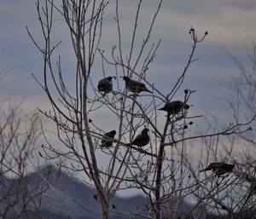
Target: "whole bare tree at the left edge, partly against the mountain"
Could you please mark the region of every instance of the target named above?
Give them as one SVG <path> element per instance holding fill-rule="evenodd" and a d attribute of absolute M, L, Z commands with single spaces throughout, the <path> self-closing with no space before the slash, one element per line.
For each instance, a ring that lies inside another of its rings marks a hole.
<path fill-rule="evenodd" d="M 39 136 L 38 112 L 24 112 L 20 104 L 1 107 L 0 121 L 0 189 L 1 216 L 20 216 L 26 212 L 26 206 L 38 193 L 29 189 L 25 178 L 33 170 L 29 166 L 38 166 L 35 154 Z M 32 165 L 31 165 L 32 166 Z M 35 203 L 34 203 L 35 204 Z M 19 205 L 19 207 L 17 207 Z M 38 205 L 33 208 L 38 210 Z M 19 210 L 18 210 L 19 209 Z"/>

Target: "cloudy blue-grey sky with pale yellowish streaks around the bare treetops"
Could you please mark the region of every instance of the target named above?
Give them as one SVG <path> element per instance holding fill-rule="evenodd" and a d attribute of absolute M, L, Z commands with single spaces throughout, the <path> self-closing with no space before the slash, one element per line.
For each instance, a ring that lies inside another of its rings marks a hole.
<path fill-rule="evenodd" d="M 139 16 L 138 40 L 140 43 L 145 31 L 148 30 L 148 20 L 157 7 L 157 1 L 144 0 L 142 14 Z M 44 1 L 40 1 L 44 3 Z M 110 0 L 103 21 L 101 46 L 107 53 L 111 46 L 117 43 L 117 31 L 114 22 L 115 1 Z M 131 27 L 135 19 L 137 1 L 122 0 L 119 3 L 121 29 L 124 51 L 131 42 Z M 148 69 L 148 81 L 154 82 L 164 93 L 176 83 L 178 75 L 188 60 L 191 50 L 189 29 L 195 28 L 198 36 L 208 32 L 205 40 L 195 51 L 197 61 L 189 67 L 182 89 L 196 89 L 189 104 L 193 105 L 191 113 L 206 112 L 218 117 L 227 118 L 224 109 L 224 98 L 227 89 L 220 84 L 229 83 L 239 76 L 235 63 L 226 54 L 229 52 L 239 60 L 247 63 L 247 49 L 251 41 L 256 39 L 256 0 L 164 0 L 160 8 L 150 37 L 151 42 L 161 40 L 156 52 L 154 63 Z M 55 42 L 62 41 L 56 50 L 56 56 L 61 55 L 66 80 L 72 79 L 72 67 L 75 63 L 70 52 L 69 33 L 64 26 L 60 14 L 54 15 Z M 42 32 L 38 23 L 38 15 L 34 0 L 0 1 L 0 101 L 7 105 L 9 101 L 23 101 L 25 110 L 49 108 L 49 102 L 43 90 L 32 77 L 42 77 L 43 59 L 26 32 L 26 26 L 32 36 L 42 43 Z M 102 78 L 100 66 L 96 66 L 93 84 Z M 108 75 L 113 72 L 108 70 Z M 69 84 L 71 87 L 72 84 Z M 177 99 L 183 98 L 183 92 L 178 92 Z M 99 112 L 103 118 L 107 112 Z M 107 113 L 108 114 L 108 113 Z M 228 122 L 228 121 L 227 121 Z M 107 127 L 107 121 L 102 125 Z"/>

